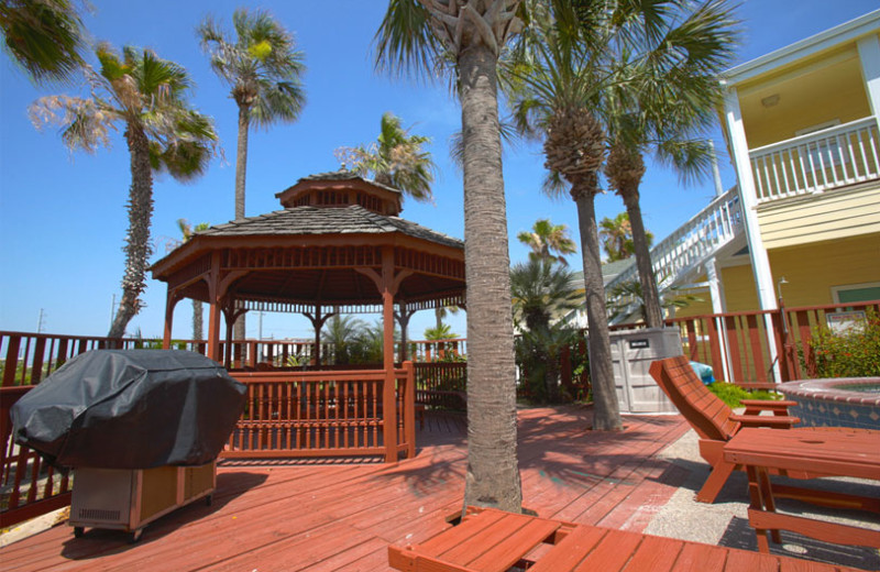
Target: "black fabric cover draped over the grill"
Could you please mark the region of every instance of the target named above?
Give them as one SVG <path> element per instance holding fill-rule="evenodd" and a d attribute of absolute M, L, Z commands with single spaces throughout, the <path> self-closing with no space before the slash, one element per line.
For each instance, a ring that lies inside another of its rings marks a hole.
<path fill-rule="evenodd" d="M 96 350 L 22 396 L 13 431 L 57 466 L 199 465 L 222 450 L 245 391 L 197 353 Z"/>

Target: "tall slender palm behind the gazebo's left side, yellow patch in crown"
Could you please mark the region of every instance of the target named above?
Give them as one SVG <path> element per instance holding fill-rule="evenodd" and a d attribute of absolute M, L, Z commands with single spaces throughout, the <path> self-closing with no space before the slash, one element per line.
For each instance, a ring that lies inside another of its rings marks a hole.
<path fill-rule="evenodd" d="M 235 41 L 211 19 L 197 32 L 202 50 L 210 54 L 211 68 L 231 88 L 239 108 L 239 141 L 235 151 L 235 219 L 244 218 L 244 186 L 248 172 L 248 133 L 253 122 L 268 128 L 299 118 L 306 95 L 300 77 L 306 70 L 302 52 L 294 36 L 264 11 L 235 10 L 232 14 Z M 234 338 L 244 340 L 245 318 L 234 326 Z"/>

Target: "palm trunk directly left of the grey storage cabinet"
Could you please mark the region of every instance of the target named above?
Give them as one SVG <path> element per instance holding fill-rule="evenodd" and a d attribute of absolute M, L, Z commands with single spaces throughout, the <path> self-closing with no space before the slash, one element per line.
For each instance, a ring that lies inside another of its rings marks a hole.
<path fill-rule="evenodd" d="M 624 426 L 620 420 L 620 407 L 617 404 L 614 370 L 612 369 L 608 314 L 605 308 L 605 285 L 602 280 L 598 251 L 595 184 L 575 184 L 572 186 L 571 194 L 578 206 L 578 227 L 581 231 L 581 253 L 584 265 L 587 348 L 594 404 L 593 428 L 597 431 L 619 431 Z"/>

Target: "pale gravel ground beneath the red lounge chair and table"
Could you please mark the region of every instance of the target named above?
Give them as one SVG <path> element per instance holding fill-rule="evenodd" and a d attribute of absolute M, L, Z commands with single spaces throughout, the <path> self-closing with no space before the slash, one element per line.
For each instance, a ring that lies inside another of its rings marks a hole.
<path fill-rule="evenodd" d="M 758 550 L 755 531 L 749 527 L 748 480 L 745 472 L 735 472 L 715 503 L 707 505 L 694 499 L 694 495 L 703 486 L 710 473 L 708 464 L 700 458 L 696 433 L 693 430 L 688 431 L 681 439 L 664 449 L 659 457 L 688 470 L 689 476 L 672 495 L 669 503 L 653 517 L 645 530 L 646 534 Z M 774 477 L 773 481 L 794 485 L 804 484 L 803 481 L 778 477 Z M 880 497 L 880 486 L 876 481 L 821 479 L 812 480 L 810 486 Z M 787 498 L 777 501 L 777 509 L 880 530 L 880 515 L 871 514 L 866 518 L 866 513 L 825 509 Z M 831 544 L 784 530 L 781 532 L 781 537 L 782 544 L 770 542 L 770 551 L 774 554 L 794 556 L 866 570 L 880 570 L 880 551 L 877 549 Z"/>

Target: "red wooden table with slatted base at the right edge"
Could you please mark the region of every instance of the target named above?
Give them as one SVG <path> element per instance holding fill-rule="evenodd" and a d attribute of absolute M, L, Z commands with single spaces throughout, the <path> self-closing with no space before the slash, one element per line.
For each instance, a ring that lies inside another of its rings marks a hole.
<path fill-rule="evenodd" d="M 806 471 L 825 476 L 854 476 L 880 481 L 880 431 L 815 430 L 812 428 L 770 431 L 743 429 L 724 446 L 724 459 L 746 468 L 749 479 L 749 524 L 758 536 L 758 549 L 769 552 L 767 534 L 779 542 L 779 530 L 839 544 L 867 546 L 880 549 L 880 531 L 780 514 L 774 493 L 824 506 L 880 510 L 880 499 L 855 495 L 773 485 L 773 471 Z M 791 495 L 792 491 L 799 492 Z"/>

